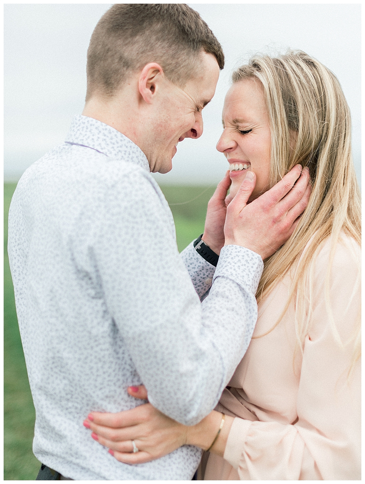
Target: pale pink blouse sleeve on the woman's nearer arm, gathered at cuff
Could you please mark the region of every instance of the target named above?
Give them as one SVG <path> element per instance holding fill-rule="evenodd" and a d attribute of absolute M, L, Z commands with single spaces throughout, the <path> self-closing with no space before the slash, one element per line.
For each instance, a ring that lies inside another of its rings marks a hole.
<path fill-rule="evenodd" d="M 241 480 L 361 479 L 360 360 L 352 371 L 355 321 L 360 311 L 359 248 L 338 244 L 330 280 L 324 277 L 329 250 L 315 267 L 315 298 L 305 338 L 297 399 L 298 421 L 250 422 L 235 418 L 224 458 Z M 335 325 L 343 345 L 334 337 Z"/>

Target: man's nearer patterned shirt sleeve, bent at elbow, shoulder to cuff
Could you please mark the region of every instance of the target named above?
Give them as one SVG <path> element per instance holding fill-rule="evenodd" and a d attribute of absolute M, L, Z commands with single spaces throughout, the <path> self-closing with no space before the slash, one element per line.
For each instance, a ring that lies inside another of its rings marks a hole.
<path fill-rule="evenodd" d="M 134 169 L 108 187 L 85 251 L 150 402 L 192 425 L 215 407 L 247 349 L 263 263 L 243 247 L 225 247 L 201 304 L 150 178 Z"/>

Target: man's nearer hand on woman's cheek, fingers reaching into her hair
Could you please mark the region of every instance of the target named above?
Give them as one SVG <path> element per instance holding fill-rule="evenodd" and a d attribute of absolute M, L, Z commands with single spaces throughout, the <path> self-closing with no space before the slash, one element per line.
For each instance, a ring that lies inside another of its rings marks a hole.
<path fill-rule="evenodd" d="M 227 207 L 225 245 L 241 245 L 266 259 L 286 242 L 310 196 L 309 170 L 294 166 L 273 188 L 247 205 L 256 176 L 248 171 Z"/>

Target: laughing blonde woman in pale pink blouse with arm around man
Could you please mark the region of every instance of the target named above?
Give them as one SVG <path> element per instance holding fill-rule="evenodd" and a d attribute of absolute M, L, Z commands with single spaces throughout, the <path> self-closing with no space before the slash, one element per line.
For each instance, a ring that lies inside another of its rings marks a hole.
<path fill-rule="evenodd" d="M 193 427 L 150 404 L 92 413 L 85 425 L 126 463 L 183 444 L 209 449 L 206 480 L 360 479 L 360 193 L 349 107 L 326 67 L 292 51 L 233 74 L 223 123 L 217 149 L 232 195 L 247 171 L 257 177 L 252 199 L 298 163 L 312 181 L 294 233 L 265 261 L 250 346 L 216 410 Z M 143 387 L 129 393 L 146 397 Z"/>

